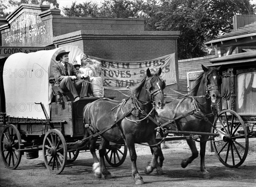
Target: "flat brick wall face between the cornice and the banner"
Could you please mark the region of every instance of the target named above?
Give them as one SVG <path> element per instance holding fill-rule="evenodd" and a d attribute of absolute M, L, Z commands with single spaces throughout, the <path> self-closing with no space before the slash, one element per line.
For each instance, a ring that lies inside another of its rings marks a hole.
<path fill-rule="evenodd" d="M 175 40 L 141 37 L 136 40 L 120 38 L 84 40 L 84 53 L 116 61 L 142 61 L 175 53 Z"/>

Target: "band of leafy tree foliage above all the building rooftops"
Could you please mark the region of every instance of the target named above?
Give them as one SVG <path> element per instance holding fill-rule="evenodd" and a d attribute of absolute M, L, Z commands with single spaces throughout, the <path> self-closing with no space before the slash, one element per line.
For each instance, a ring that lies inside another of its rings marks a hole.
<path fill-rule="evenodd" d="M 57 0 L 20 0 L 19 3 L 42 4 L 58 8 Z M 9 0 L 9 2 L 17 2 Z M 3 15 L 5 7 L 0 7 Z M 102 6 L 93 1 L 63 7 L 65 16 L 143 18 L 145 30 L 180 31 L 178 57 L 202 57 L 207 53 L 204 42 L 232 31 L 233 16 L 255 14 L 250 0 L 105 0 Z"/>

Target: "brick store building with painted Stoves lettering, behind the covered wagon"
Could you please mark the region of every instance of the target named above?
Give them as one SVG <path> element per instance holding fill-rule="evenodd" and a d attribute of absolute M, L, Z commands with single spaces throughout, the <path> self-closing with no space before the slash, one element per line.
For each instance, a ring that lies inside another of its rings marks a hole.
<path fill-rule="evenodd" d="M 178 72 L 179 31 L 144 31 L 143 19 L 63 17 L 60 13 L 59 9 L 50 9 L 48 5 L 21 4 L 3 20 L 6 24 L 0 26 L 2 47 L 29 47 L 32 52 L 35 47 L 73 45 L 90 56 L 126 62 L 176 52 Z M 177 88 L 177 84 L 169 87 Z M 122 99 L 118 92 L 105 94 Z"/>

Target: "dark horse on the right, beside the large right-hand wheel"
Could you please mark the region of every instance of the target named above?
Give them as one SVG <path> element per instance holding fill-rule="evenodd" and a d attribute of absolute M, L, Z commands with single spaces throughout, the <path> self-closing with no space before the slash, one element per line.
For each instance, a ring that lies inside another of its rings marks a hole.
<path fill-rule="evenodd" d="M 214 114 L 211 105 L 218 103 L 221 97 L 220 86 L 222 77 L 219 72 L 221 67 L 206 68 L 204 65 L 202 65 L 202 68 L 204 73 L 202 73 L 196 80 L 189 98 L 184 98 L 181 100 L 175 99 L 169 103 L 166 102 L 164 109 L 156 110 L 161 124 L 164 124 L 168 120 L 174 119 L 175 117 L 178 118 L 180 115 L 184 115 L 183 117 L 175 120 L 175 123 L 168 126 L 170 130 L 195 132 L 211 131 L 212 126 L 209 122 L 214 122 Z M 209 120 L 209 122 L 207 122 L 207 120 Z M 208 138 L 209 136 L 202 136 L 200 139 L 200 169 L 205 178 L 210 177 L 204 164 L 205 147 Z M 195 141 L 192 139 L 188 139 L 186 141 L 192 151 L 192 156 L 182 160 L 181 166 L 183 168 L 198 157 L 198 150 L 195 146 Z"/>

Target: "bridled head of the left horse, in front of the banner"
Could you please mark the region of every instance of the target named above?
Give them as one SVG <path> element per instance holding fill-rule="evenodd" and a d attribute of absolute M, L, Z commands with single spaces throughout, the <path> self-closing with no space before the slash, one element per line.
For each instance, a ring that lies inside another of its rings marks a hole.
<path fill-rule="evenodd" d="M 163 89 L 166 87 L 165 82 L 160 78 L 162 69 L 160 68 L 156 74 L 151 74 L 149 68 L 147 69 L 147 77 L 145 82 L 146 91 L 149 93 L 151 99 L 157 108 L 163 108 L 165 100 L 163 96 Z"/>

